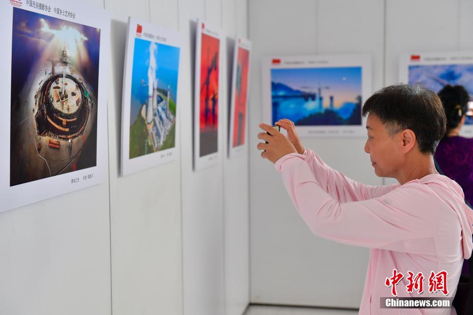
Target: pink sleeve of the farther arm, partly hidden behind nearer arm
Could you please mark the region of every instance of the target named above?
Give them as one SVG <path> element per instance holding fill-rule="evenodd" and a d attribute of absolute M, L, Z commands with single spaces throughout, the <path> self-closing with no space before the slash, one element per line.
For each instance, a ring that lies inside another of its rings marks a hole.
<path fill-rule="evenodd" d="M 323 191 L 339 202 L 367 200 L 385 195 L 394 188 L 399 187 L 399 184 L 370 186 L 354 181 L 325 164 L 310 149 L 305 149 L 303 156 Z"/>

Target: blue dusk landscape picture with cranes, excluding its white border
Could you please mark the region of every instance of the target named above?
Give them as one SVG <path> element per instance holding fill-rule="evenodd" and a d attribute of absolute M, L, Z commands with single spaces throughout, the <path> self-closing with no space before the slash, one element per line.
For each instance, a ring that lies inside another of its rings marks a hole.
<path fill-rule="evenodd" d="M 361 125 L 361 95 L 361 67 L 271 70 L 273 124 Z"/>

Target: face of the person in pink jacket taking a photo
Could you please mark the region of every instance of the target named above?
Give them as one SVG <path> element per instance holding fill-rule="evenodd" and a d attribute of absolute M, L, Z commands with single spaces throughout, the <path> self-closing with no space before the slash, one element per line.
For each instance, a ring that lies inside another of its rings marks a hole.
<path fill-rule="evenodd" d="M 385 125 L 374 114 L 368 115 L 366 129 L 365 152 L 370 154 L 374 173 L 380 177 L 395 177 L 404 159 L 399 147 L 402 147 L 402 139 L 398 135 L 390 137 Z"/>

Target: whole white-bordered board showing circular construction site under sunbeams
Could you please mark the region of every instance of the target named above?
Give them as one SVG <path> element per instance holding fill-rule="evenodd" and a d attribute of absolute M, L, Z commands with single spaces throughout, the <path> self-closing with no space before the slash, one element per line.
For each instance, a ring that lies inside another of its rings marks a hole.
<path fill-rule="evenodd" d="M 0 16 L 2 212 L 105 179 L 110 17 L 47 0 L 4 1 Z"/>

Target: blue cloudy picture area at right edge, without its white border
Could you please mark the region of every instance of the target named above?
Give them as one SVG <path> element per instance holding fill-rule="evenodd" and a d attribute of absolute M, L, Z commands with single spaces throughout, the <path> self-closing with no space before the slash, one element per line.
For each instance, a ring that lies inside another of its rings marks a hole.
<path fill-rule="evenodd" d="M 409 84 L 422 83 L 438 93 L 445 85 L 463 85 L 473 100 L 473 65 L 414 65 L 409 66 Z M 465 124 L 473 124 L 466 116 Z"/>

